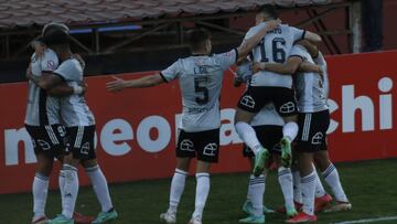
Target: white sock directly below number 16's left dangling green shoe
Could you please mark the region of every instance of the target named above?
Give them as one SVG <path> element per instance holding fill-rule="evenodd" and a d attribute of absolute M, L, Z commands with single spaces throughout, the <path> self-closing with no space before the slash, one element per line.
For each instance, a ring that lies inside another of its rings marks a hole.
<path fill-rule="evenodd" d="M 254 215 L 264 215 L 265 175 L 261 174 L 258 178 L 251 175 L 248 188 L 250 189 L 250 202 L 253 203 Z"/>

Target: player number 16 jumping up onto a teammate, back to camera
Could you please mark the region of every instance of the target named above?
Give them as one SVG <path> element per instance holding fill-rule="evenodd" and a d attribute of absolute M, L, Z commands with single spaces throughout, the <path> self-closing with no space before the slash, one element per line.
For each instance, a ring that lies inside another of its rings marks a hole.
<path fill-rule="evenodd" d="M 278 15 L 275 10 L 269 7 L 262 8 L 256 15 L 257 26 L 248 31 L 246 39 L 255 34 L 262 22 L 277 18 Z M 285 63 L 293 42 L 302 39 L 315 42 L 321 41 L 321 38 L 312 32 L 282 24 L 269 32 L 261 43 L 254 49 L 254 61 Z M 297 106 L 291 87 L 292 77 L 290 75 L 261 71 L 253 76 L 248 89 L 243 94 L 237 105 L 235 128 L 239 137 L 255 154 L 254 175 L 256 177 L 262 173 L 265 161 L 270 157 L 270 153 L 261 146 L 249 122 L 268 103 L 273 103 L 276 110 L 286 122 L 282 127 L 283 138 L 280 141 L 281 162 L 285 167 L 291 166 L 290 145 L 298 135 Z M 289 169 L 287 172 L 288 175 L 291 175 Z"/>

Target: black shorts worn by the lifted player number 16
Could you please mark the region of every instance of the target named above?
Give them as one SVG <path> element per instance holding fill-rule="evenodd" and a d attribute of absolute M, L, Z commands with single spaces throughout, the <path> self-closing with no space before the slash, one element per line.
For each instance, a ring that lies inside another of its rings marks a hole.
<path fill-rule="evenodd" d="M 257 114 L 265 105 L 273 103 L 281 117 L 297 115 L 294 92 L 286 87 L 248 86 L 238 100 L 237 107 Z"/>

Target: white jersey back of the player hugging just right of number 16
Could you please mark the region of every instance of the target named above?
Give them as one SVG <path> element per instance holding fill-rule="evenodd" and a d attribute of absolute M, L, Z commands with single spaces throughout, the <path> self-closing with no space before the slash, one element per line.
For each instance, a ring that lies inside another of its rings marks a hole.
<path fill-rule="evenodd" d="M 304 61 L 315 63 L 309 52 L 301 45 L 293 46 L 291 53 L 301 56 Z M 328 109 L 329 79 L 326 63 L 319 53 L 318 63 L 323 67 L 324 73 L 298 73 L 294 78 L 299 111 L 314 113 Z"/>

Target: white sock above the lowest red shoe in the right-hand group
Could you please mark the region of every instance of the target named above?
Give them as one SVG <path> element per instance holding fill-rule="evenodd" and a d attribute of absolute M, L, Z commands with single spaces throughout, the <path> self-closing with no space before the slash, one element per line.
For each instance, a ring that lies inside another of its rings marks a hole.
<path fill-rule="evenodd" d="M 315 175 L 312 171 L 309 175 L 301 178 L 302 185 L 302 211 L 309 215 L 314 214 L 314 188 Z"/>

